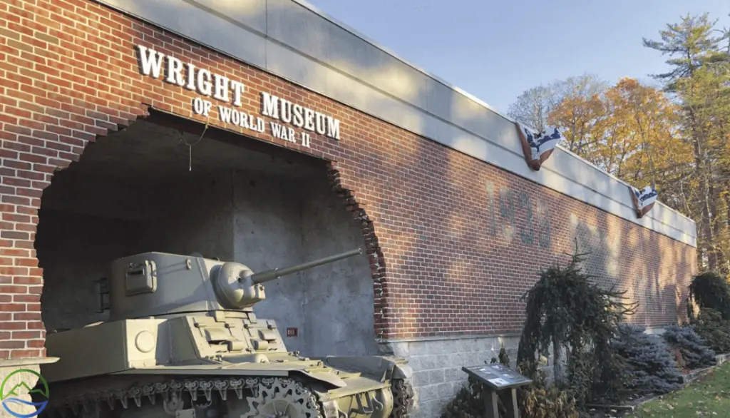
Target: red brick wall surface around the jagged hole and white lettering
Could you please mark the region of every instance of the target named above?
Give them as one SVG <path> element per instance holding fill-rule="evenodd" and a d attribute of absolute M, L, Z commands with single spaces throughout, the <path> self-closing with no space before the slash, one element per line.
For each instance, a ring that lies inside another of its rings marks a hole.
<path fill-rule="evenodd" d="M 690 246 L 92 1 L 5 0 L 0 358 L 44 354 L 34 235 L 54 170 L 150 107 L 244 132 L 221 124 L 215 107 L 210 120 L 193 116 L 198 94 L 140 75 L 136 45 L 245 83 L 248 113 L 259 115 L 258 94 L 265 91 L 342 121 L 340 141 L 312 134 L 311 148 L 268 130 L 253 136 L 331 161 L 334 187 L 364 229 L 381 338 L 518 329 L 518 297 L 540 267 L 566 259 L 575 239 L 592 248 L 588 267 L 600 280 L 648 302 L 635 320 L 664 324 L 682 312 L 678 300 L 695 265 Z"/>

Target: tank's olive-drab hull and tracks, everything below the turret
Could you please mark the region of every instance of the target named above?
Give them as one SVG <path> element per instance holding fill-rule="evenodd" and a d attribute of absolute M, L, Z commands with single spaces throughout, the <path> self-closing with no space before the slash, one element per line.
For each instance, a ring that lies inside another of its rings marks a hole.
<path fill-rule="evenodd" d="M 252 316 L 126 319 L 49 334 L 47 354 L 61 360 L 41 369 L 51 394 L 44 415 L 408 416 L 404 360 L 301 357 L 286 351 L 274 322 Z M 269 411 L 277 406 L 286 411 Z"/>

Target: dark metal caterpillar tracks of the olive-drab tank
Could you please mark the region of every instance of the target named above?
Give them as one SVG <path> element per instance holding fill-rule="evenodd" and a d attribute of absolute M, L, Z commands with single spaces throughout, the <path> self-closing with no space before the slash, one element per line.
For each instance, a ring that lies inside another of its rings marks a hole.
<path fill-rule="evenodd" d="M 319 400 L 308 390 L 304 390 L 300 381 L 281 378 L 245 378 L 245 379 L 185 379 L 183 381 L 169 380 L 155 382 L 142 386 L 134 386 L 127 389 L 104 390 L 99 392 L 88 392 L 82 395 L 72 395 L 61 399 L 49 400 L 44 414 L 66 418 L 69 412 L 75 417 L 99 417 L 101 406 L 106 403 L 110 409 L 121 406 L 128 409 L 130 406 L 142 406 L 142 399 L 147 398 L 151 404 L 162 400 L 162 405 L 174 405 L 176 400 L 182 398 L 183 392 L 188 392 L 193 402 L 203 399 L 210 403 L 213 393 L 218 393 L 220 399 L 225 401 L 230 395 L 235 395 L 239 400 L 244 398 L 244 391 L 258 392 L 263 384 L 265 387 L 272 387 L 275 379 L 289 381 L 295 384 L 301 392 L 306 392 L 309 398 L 309 406 L 317 412 L 316 418 L 322 418 L 322 408 Z M 413 390 L 410 382 L 403 379 L 394 379 L 391 383 L 393 391 L 393 412 L 391 418 L 407 418 L 413 406 Z M 299 392 L 299 390 L 297 391 Z M 300 393 L 301 393 L 300 392 Z M 174 412 L 172 413 L 174 417 Z M 314 417 L 313 417 L 314 418 Z"/>

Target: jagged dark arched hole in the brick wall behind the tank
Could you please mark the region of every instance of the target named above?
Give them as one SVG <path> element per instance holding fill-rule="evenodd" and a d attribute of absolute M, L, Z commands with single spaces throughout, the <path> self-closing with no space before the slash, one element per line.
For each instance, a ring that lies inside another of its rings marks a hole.
<path fill-rule="evenodd" d="M 183 137 L 188 144 L 198 139 Z M 47 330 L 106 320 L 108 312 L 96 312 L 94 281 L 110 277 L 112 260 L 131 254 L 200 253 L 258 271 L 363 248 L 361 229 L 331 191 L 326 162 L 276 149 L 272 156 L 204 137 L 193 145 L 188 170 L 180 132 L 150 121 L 88 145 L 80 161 L 53 177 L 39 210 Z M 266 297 L 255 312 L 298 330 L 297 338 L 284 336 L 290 350 L 377 351 L 366 256 L 268 282 Z"/>

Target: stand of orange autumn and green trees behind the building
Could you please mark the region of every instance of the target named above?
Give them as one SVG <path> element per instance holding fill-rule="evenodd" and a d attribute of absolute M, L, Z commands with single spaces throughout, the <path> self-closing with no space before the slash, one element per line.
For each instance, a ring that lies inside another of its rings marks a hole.
<path fill-rule="evenodd" d="M 730 30 L 708 15 L 685 16 L 644 45 L 669 56 L 654 75 L 661 90 L 623 78 L 606 87 L 571 77 L 518 96 L 509 115 L 556 126 L 563 148 L 634 187 L 654 186 L 661 202 L 697 224 L 703 270 L 730 273 Z M 719 35 L 718 35 L 719 34 Z"/>

